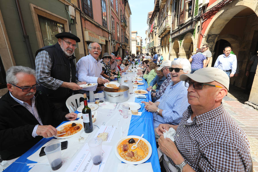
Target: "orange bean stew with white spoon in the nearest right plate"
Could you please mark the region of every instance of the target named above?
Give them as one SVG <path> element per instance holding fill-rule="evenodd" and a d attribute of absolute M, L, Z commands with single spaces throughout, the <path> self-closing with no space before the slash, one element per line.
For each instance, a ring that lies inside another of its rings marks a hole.
<path fill-rule="evenodd" d="M 135 140 L 135 143 L 128 143 L 128 140 L 130 140 L 130 138 L 122 141 L 117 146 L 118 154 L 127 161 L 133 161 L 133 162 L 141 161 L 148 155 L 149 148 L 144 141 L 140 140 L 140 142 L 137 144 L 137 148 L 132 150 L 131 149 L 132 145 L 136 144 L 136 142 L 139 140 L 138 138 L 133 138 L 133 139 Z M 123 149 L 124 144 L 128 145 L 128 150 L 126 150 L 126 151 L 124 151 L 124 149 Z M 127 155 L 131 151 L 134 153 L 134 155 L 132 157 L 128 157 Z"/>

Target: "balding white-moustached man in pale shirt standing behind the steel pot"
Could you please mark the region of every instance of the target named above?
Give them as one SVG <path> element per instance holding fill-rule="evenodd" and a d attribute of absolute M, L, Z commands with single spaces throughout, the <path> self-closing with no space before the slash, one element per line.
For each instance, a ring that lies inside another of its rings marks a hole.
<path fill-rule="evenodd" d="M 86 81 L 87 83 L 103 84 L 109 82 L 105 79 L 102 73 L 101 63 L 99 61 L 99 55 L 101 53 L 101 46 L 97 42 L 89 44 L 89 55 L 82 57 L 76 64 L 76 77 L 79 81 Z M 92 87 L 89 87 L 92 88 Z M 104 86 L 99 86 L 97 89 L 93 87 L 94 91 L 103 90 Z M 85 91 L 91 91 L 89 89 L 82 89 Z"/>

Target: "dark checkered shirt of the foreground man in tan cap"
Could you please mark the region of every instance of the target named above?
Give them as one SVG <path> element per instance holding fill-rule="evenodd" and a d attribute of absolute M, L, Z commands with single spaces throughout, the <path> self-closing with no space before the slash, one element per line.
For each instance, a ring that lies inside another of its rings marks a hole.
<path fill-rule="evenodd" d="M 189 105 L 175 136 L 175 145 L 187 163 L 197 172 L 248 171 L 251 165 L 249 141 L 223 105 L 187 123 L 191 114 Z M 175 166 L 170 158 L 168 160 Z M 163 164 L 166 171 L 171 172 L 165 160 Z"/>

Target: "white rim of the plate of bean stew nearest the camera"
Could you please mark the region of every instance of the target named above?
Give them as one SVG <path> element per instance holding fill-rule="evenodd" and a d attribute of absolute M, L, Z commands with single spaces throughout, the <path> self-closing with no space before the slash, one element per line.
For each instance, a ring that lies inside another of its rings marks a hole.
<path fill-rule="evenodd" d="M 147 144 L 148 149 L 149 149 L 149 152 L 148 152 L 148 155 L 147 155 L 144 159 L 142 159 L 141 161 L 135 161 L 135 162 L 127 161 L 127 160 L 123 159 L 123 158 L 118 154 L 117 146 L 118 146 L 122 141 L 124 141 L 125 139 L 128 139 L 128 138 L 138 138 L 138 139 L 140 139 L 140 136 L 132 136 L 132 135 L 131 135 L 131 136 L 126 136 L 126 137 L 120 139 L 120 140 L 115 144 L 115 145 L 116 145 L 116 148 L 115 148 L 116 157 L 118 157 L 118 159 L 120 159 L 120 160 L 123 161 L 124 163 L 127 163 L 127 164 L 134 164 L 134 165 L 141 164 L 141 163 L 144 163 L 145 161 L 147 161 L 147 160 L 150 158 L 151 154 L 152 154 L 152 147 L 151 147 L 150 143 L 148 142 L 148 140 L 146 140 L 145 138 L 142 138 L 141 140 L 144 141 L 144 142 Z"/>

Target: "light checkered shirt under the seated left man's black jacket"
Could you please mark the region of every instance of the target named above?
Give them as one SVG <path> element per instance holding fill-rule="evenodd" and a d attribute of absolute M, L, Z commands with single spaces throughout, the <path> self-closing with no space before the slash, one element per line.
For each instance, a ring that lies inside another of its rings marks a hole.
<path fill-rule="evenodd" d="M 13 97 L 13 95 L 11 94 L 10 92 L 10 95 L 11 97 L 17 101 L 20 105 L 22 105 L 23 107 L 25 107 L 26 109 L 28 109 L 28 111 L 30 111 L 30 113 L 36 118 L 36 120 L 38 121 L 38 123 L 40 123 L 40 125 L 43 125 L 41 119 L 40 119 L 40 116 L 38 115 L 38 110 L 36 108 L 36 105 L 35 105 L 35 96 L 33 96 L 33 98 L 31 99 L 31 105 L 29 105 L 29 103 L 26 103 L 24 101 L 21 101 L 15 97 Z M 36 125 L 32 131 L 32 137 L 36 137 L 38 136 L 38 134 L 36 133 L 38 129 L 38 125 Z"/>

